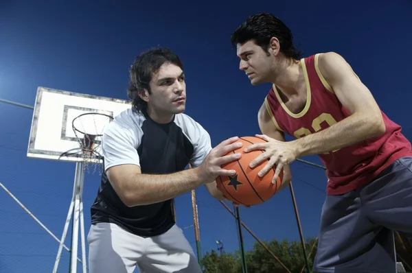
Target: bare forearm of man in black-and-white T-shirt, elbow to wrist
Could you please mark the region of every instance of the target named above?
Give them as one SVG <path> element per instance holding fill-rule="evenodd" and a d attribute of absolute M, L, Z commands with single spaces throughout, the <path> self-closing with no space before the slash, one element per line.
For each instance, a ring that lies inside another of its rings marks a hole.
<path fill-rule="evenodd" d="M 128 181 L 122 189 L 127 206 L 170 200 L 203 185 L 196 169 L 173 174 L 135 174 Z"/>

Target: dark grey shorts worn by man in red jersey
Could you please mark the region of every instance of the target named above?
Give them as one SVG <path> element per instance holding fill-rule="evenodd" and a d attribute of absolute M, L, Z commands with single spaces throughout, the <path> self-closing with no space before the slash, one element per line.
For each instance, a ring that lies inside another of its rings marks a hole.
<path fill-rule="evenodd" d="M 313 271 L 396 272 L 392 230 L 412 237 L 412 157 L 361 189 L 326 197 Z"/>

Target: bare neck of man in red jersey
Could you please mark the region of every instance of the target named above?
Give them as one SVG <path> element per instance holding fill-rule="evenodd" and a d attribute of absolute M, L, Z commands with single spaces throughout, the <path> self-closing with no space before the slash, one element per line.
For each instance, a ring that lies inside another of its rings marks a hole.
<path fill-rule="evenodd" d="M 301 65 L 298 60 L 282 60 L 276 66 L 271 82 L 279 88 L 286 97 L 297 95 L 301 82 Z"/>

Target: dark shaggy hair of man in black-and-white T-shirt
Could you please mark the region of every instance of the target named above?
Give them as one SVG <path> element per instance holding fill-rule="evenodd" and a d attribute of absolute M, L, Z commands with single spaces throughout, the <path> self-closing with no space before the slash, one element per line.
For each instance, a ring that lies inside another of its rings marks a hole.
<path fill-rule="evenodd" d="M 152 75 L 157 73 L 160 67 L 165 64 L 175 64 L 183 70 L 183 63 L 179 56 L 174 54 L 167 47 L 153 47 L 142 52 L 137 56 L 130 67 L 130 79 L 127 88 L 127 95 L 132 101 L 133 108 L 142 110 L 146 108 L 147 103 L 139 97 L 139 93 L 144 89 L 150 94 L 150 81 Z"/>

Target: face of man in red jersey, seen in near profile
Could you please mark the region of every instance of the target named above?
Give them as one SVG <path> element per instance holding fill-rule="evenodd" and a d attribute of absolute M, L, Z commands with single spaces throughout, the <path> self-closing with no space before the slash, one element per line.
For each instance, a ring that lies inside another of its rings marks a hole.
<path fill-rule="evenodd" d="M 271 49 L 268 54 L 250 40 L 243 45 L 238 44 L 236 55 L 240 58 L 239 69 L 246 73 L 251 84 L 258 85 L 270 81 L 268 79 L 271 77 L 275 63 Z"/>

